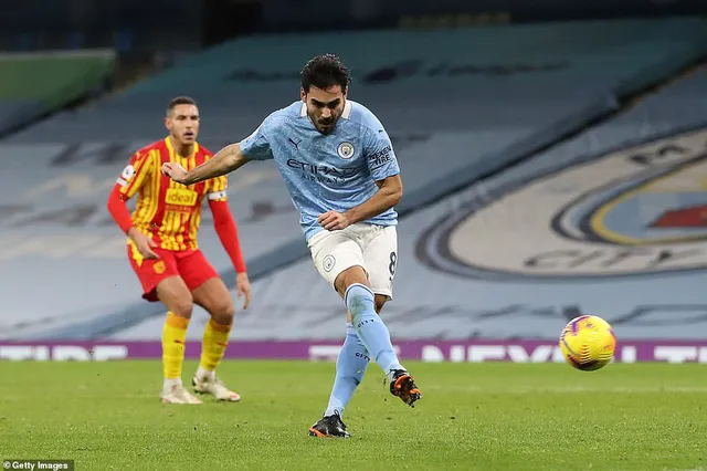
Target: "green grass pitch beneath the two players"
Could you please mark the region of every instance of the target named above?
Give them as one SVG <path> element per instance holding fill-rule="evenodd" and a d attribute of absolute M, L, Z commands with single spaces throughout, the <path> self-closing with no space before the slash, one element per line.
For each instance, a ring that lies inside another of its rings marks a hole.
<path fill-rule="evenodd" d="M 707 367 L 408 363 L 423 399 L 371 365 L 349 440 L 307 436 L 331 363 L 226 362 L 239 404 L 162 405 L 159 362 L 0 363 L 0 459 L 77 470 L 700 470 Z M 187 380 L 196 368 L 184 366 Z"/>

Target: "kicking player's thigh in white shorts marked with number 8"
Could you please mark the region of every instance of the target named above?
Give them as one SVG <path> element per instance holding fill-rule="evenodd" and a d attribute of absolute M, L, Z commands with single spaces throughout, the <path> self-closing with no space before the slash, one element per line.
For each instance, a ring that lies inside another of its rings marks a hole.
<path fill-rule="evenodd" d="M 377 295 L 377 308 L 393 297 L 393 281 L 398 268 L 398 232 L 394 226 L 371 226 L 371 239 L 363 250 L 371 291 Z"/>

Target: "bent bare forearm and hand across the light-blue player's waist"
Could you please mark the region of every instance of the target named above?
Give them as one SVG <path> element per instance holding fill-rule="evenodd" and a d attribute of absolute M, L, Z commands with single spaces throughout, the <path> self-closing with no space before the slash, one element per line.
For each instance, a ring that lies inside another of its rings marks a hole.
<path fill-rule="evenodd" d="M 402 198 L 402 180 L 400 174 L 376 181 L 378 191 L 368 201 L 356 206 L 344 213 L 327 211 L 319 214 L 319 223 L 324 229 L 334 231 L 371 219 L 388 211 Z"/>

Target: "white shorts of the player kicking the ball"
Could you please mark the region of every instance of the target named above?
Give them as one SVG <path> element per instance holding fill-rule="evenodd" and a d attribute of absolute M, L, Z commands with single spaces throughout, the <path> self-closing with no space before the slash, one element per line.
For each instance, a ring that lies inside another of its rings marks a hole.
<path fill-rule="evenodd" d="M 319 231 L 309 239 L 309 251 L 317 271 L 335 290 L 337 276 L 360 265 L 373 293 L 393 297 L 398 266 L 398 232 L 394 226 L 357 223 L 341 231 Z"/>

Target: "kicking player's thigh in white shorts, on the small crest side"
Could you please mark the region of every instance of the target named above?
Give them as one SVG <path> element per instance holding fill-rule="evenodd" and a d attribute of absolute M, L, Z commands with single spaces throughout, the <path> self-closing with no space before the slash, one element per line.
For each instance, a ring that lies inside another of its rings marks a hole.
<path fill-rule="evenodd" d="M 337 279 L 354 268 L 360 268 L 366 275 L 363 252 L 348 231 L 320 231 L 309 239 L 308 245 L 317 272 L 335 290 Z"/>

